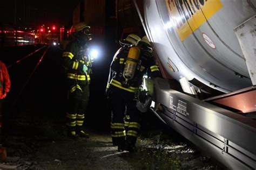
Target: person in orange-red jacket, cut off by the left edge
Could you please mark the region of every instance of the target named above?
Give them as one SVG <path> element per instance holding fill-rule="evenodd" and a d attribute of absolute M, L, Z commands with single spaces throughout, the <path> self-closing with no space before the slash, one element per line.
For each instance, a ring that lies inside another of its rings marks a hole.
<path fill-rule="evenodd" d="M 10 91 L 11 81 L 5 64 L 0 61 L 0 145 L 3 144 L 2 134 L 2 101 Z"/>

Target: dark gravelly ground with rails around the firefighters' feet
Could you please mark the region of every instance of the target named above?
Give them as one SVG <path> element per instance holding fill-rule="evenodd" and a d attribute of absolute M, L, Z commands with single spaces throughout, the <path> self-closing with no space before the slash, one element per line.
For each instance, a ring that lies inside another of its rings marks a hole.
<path fill-rule="evenodd" d="M 6 65 L 35 49 L 6 49 L 4 53 L 13 52 L 5 59 Z M 42 60 L 43 50 L 9 68 L 12 89 L 4 109 L 4 146 L 9 158 L 2 165 L 16 169 L 225 169 L 167 129 L 151 112 L 143 115 L 137 151 L 118 152 L 111 143 L 104 95 L 111 56 L 95 62 L 91 77 L 84 125 L 90 138 L 70 139 L 65 129 L 61 53 L 58 47 L 50 47 Z"/>

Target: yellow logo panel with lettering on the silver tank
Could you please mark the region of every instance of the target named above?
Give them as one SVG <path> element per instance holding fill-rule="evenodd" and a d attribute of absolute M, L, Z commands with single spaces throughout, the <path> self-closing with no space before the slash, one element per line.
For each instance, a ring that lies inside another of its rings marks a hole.
<path fill-rule="evenodd" d="M 171 23 L 181 41 L 223 7 L 220 0 L 166 0 L 165 2 Z"/>

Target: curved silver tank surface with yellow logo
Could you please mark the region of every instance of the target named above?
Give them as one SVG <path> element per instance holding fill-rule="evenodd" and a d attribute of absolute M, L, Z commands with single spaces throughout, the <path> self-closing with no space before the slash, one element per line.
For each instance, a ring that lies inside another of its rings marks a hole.
<path fill-rule="evenodd" d="M 174 79 L 229 93 L 252 86 L 234 29 L 255 15 L 254 5 L 256 0 L 149 0 L 145 25 Z"/>

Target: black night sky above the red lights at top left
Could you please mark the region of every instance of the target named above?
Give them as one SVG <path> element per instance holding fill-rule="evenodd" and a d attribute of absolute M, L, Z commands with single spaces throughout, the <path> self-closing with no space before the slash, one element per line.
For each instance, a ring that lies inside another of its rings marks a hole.
<path fill-rule="evenodd" d="M 16 0 L 16 24 L 19 27 L 38 27 L 42 24 L 62 26 L 72 24 L 72 12 L 79 0 Z M 15 0 L 0 4 L 0 23 L 14 25 Z"/>

